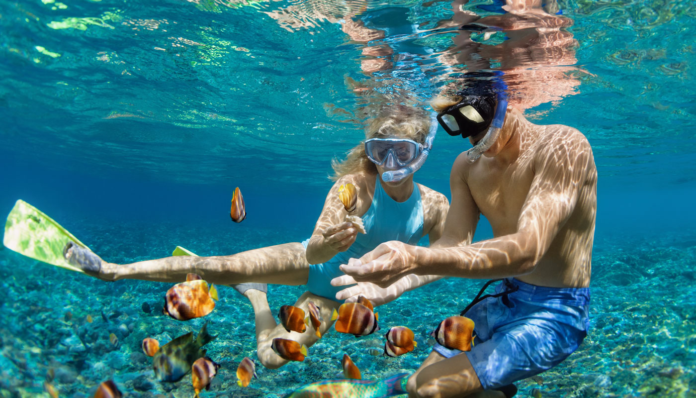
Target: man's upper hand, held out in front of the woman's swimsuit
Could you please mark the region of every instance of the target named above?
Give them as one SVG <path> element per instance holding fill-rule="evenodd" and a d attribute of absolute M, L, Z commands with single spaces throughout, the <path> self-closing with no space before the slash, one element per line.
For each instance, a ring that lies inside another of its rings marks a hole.
<path fill-rule="evenodd" d="M 386 288 L 405 275 L 413 273 L 416 256 L 413 254 L 414 246 L 406 245 L 397 240 L 391 240 L 377 246 L 372 252 L 368 252 L 360 259 L 350 259 L 340 269 L 353 277 L 354 282 L 372 282 L 381 288 Z M 336 283 L 333 283 L 336 281 Z M 345 277 L 332 280 L 333 286 L 342 286 L 347 283 Z"/>

